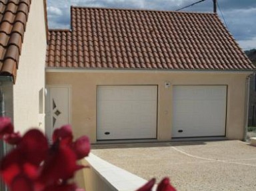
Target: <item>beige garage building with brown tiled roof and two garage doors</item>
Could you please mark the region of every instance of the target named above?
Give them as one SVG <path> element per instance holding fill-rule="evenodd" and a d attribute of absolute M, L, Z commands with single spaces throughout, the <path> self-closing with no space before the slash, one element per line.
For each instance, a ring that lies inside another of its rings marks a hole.
<path fill-rule="evenodd" d="M 49 132 L 243 139 L 255 67 L 216 13 L 71 7 L 71 30 L 48 34 Z"/>

